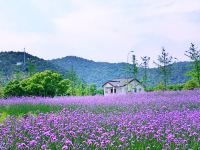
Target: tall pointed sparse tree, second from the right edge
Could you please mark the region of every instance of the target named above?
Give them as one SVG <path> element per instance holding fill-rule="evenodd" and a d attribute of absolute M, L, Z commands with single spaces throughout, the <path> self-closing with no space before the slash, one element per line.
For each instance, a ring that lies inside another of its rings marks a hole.
<path fill-rule="evenodd" d="M 168 80 L 171 73 L 171 65 L 175 63 L 175 59 L 169 56 L 169 53 L 163 48 L 161 55 L 158 56 L 158 62 L 154 62 L 155 65 L 160 69 L 162 75 L 162 82 L 164 83 L 164 90 L 167 89 Z"/>

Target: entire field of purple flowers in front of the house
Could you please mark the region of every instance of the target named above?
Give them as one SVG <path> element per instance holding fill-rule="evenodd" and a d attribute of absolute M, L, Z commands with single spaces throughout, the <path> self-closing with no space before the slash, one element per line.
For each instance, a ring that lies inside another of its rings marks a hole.
<path fill-rule="evenodd" d="M 9 114 L 20 106 L 38 113 Z M 51 109 L 40 111 L 44 106 Z M 0 117 L 7 113 L 0 122 L 0 149 L 200 147 L 200 90 L 10 98 L 0 100 L 0 108 Z"/>

